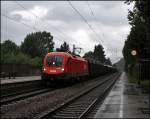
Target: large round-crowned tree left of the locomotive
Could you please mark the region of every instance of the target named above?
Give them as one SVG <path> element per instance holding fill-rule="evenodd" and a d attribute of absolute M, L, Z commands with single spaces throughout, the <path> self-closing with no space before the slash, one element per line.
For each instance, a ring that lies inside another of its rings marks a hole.
<path fill-rule="evenodd" d="M 32 58 L 43 57 L 47 52 L 53 51 L 53 48 L 53 36 L 46 31 L 28 34 L 21 44 L 22 52 Z"/>

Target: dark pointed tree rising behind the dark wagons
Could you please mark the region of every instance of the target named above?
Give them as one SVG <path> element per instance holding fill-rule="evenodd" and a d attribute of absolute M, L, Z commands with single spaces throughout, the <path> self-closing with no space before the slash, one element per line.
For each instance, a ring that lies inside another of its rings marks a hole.
<path fill-rule="evenodd" d="M 95 45 L 93 57 L 96 60 L 99 60 L 101 63 L 104 63 L 106 61 L 105 54 L 104 54 L 104 48 L 102 45 L 98 44 Z"/>

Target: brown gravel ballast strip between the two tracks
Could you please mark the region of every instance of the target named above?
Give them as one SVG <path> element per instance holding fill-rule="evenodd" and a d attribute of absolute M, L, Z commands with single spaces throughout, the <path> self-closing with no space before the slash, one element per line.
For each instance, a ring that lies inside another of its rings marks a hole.
<path fill-rule="evenodd" d="M 113 74 L 114 75 L 114 74 Z M 107 76 L 107 78 L 110 76 Z M 111 75 L 112 77 L 112 75 Z M 106 77 L 88 80 L 70 87 L 56 89 L 52 92 L 30 97 L 21 101 L 1 106 L 1 118 L 36 118 L 38 115 L 61 105 L 65 100 L 93 87 Z"/>

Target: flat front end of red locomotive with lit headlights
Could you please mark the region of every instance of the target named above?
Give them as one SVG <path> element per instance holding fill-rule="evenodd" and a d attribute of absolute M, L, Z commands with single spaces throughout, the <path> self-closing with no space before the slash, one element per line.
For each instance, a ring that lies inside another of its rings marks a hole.
<path fill-rule="evenodd" d="M 42 69 L 42 80 L 49 82 L 63 81 L 65 75 L 65 56 L 52 52 L 45 56 Z"/>

